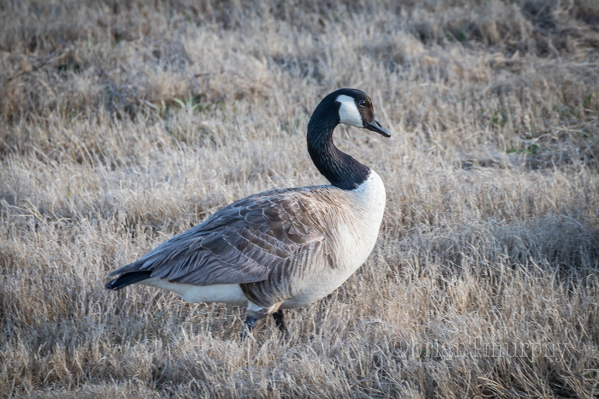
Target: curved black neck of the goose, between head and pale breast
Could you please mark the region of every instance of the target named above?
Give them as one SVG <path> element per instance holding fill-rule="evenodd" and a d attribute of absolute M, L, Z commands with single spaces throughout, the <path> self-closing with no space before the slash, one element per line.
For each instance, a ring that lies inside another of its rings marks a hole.
<path fill-rule="evenodd" d="M 339 124 L 338 112 L 330 112 L 324 102 L 316 107 L 308 122 L 308 153 L 319 172 L 332 185 L 353 190 L 367 179 L 370 168 L 335 147 L 332 134 Z M 328 106 L 338 108 L 334 102 Z"/>

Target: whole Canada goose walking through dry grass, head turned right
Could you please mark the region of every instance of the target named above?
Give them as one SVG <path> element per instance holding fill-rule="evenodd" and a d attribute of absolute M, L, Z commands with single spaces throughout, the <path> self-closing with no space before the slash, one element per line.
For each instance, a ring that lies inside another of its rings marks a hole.
<path fill-rule="evenodd" d="M 391 137 L 366 93 L 340 89 L 308 122 L 308 153 L 330 185 L 282 188 L 238 200 L 203 223 L 120 267 L 106 284 L 140 283 L 189 302 L 247 306 L 241 336 L 268 315 L 286 333 L 283 312 L 322 299 L 345 282 L 374 248 L 385 187 L 374 170 L 335 147 L 337 124 Z"/>

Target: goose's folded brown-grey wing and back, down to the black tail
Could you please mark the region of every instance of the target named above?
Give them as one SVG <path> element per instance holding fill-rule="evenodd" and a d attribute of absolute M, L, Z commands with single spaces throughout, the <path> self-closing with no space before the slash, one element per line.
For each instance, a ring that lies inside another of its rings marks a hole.
<path fill-rule="evenodd" d="M 320 194 L 305 187 L 246 197 L 110 276 L 147 270 L 193 285 L 264 281 L 293 254 L 325 239 L 328 196 Z"/>

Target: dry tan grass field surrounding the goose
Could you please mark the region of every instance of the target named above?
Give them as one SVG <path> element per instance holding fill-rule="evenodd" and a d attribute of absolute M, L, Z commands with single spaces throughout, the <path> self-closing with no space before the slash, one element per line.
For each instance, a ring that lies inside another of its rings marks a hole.
<path fill-rule="evenodd" d="M 0 397 L 599 395 L 596 0 L 0 2 Z M 379 242 L 240 341 L 244 309 L 105 276 L 221 206 L 325 180 L 317 102 L 391 139 Z"/>

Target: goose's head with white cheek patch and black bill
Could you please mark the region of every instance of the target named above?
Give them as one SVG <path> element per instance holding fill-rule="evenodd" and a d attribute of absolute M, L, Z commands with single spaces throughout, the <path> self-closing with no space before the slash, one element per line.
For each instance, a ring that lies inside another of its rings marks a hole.
<path fill-rule="evenodd" d="M 362 127 L 382 136 L 391 137 L 391 133 L 380 124 L 374 115 L 373 102 L 368 95 L 357 89 L 340 89 L 330 95 L 338 105 L 338 123 Z"/>

